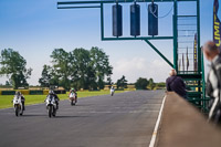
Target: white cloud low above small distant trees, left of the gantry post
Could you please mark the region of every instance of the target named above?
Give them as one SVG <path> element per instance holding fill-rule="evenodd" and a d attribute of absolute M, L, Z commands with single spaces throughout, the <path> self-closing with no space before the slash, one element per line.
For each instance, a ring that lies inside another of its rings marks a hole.
<path fill-rule="evenodd" d="M 138 77 L 152 77 L 156 82 L 164 82 L 171 69 L 162 60 L 148 61 L 144 57 L 120 59 L 113 65 L 114 82 L 125 75 L 129 83 L 136 82 Z"/>

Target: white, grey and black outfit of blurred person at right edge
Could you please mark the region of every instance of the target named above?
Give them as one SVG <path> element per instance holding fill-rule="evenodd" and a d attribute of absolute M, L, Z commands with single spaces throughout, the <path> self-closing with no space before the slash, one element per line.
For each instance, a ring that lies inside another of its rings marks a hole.
<path fill-rule="evenodd" d="M 215 56 L 208 74 L 207 94 L 210 96 L 209 119 L 221 124 L 221 56 Z"/>

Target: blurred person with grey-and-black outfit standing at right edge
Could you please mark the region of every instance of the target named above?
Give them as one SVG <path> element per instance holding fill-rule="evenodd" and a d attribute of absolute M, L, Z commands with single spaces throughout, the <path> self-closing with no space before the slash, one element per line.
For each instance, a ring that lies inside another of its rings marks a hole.
<path fill-rule="evenodd" d="M 209 122 L 221 124 L 221 56 L 215 43 L 208 41 L 203 48 L 204 56 L 211 62 L 207 80 L 207 94 L 211 97 L 209 102 Z"/>

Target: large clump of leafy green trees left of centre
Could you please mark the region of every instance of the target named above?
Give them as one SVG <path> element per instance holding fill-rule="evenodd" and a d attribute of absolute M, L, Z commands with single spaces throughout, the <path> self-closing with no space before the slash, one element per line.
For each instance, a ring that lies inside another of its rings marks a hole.
<path fill-rule="evenodd" d="M 44 66 L 41 85 L 59 82 L 59 85 L 70 87 L 97 90 L 104 88 L 104 78 L 110 76 L 113 67 L 109 65 L 108 55 L 98 48 L 91 50 L 75 49 L 66 52 L 55 49 L 52 52 L 52 67 Z"/>

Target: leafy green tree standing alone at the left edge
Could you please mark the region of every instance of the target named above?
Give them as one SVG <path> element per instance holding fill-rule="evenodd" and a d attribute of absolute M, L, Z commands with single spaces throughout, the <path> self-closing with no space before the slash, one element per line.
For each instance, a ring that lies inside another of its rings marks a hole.
<path fill-rule="evenodd" d="M 27 69 L 27 61 L 12 49 L 4 49 L 0 56 L 0 75 L 7 75 L 14 90 L 20 86 L 28 86 L 27 78 L 30 77 L 32 69 Z"/>

